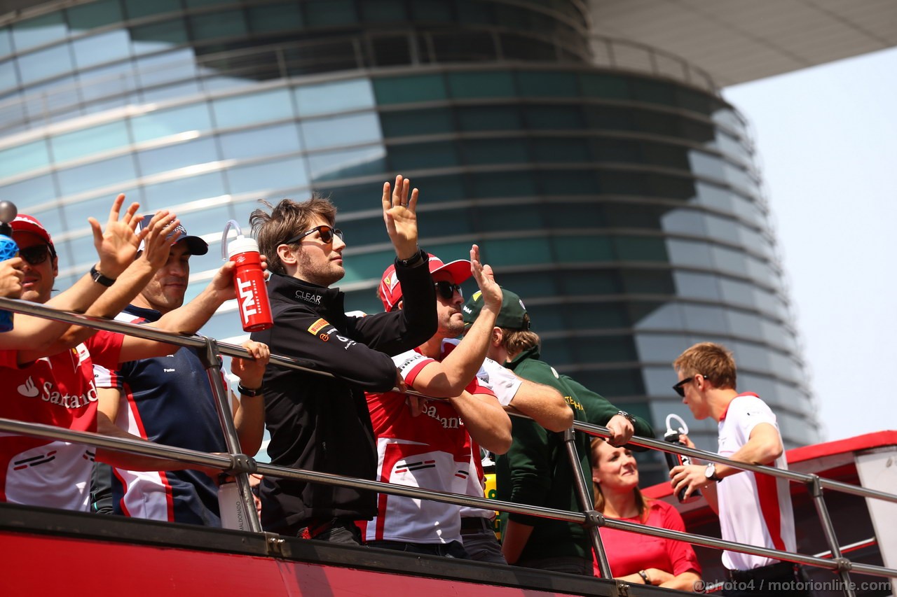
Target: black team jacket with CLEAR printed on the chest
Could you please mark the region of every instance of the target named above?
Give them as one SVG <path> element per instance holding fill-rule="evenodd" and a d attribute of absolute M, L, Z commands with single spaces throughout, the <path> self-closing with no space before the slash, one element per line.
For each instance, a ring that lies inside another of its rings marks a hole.
<path fill-rule="evenodd" d="M 265 372 L 268 455 L 280 466 L 373 480 L 374 434 L 365 391 L 396 385 L 389 357 L 411 350 L 436 333 L 436 294 L 427 255 L 414 267 L 396 260 L 402 283 L 401 310 L 353 317 L 344 313 L 344 294 L 284 275 L 268 281 L 274 327 L 252 333 L 272 354 L 310 361 L 336 378 L 269 365 Z M 309 520 L 340 517 L 370 520 L 376 493 L 266 478 L 260 489 L 266 531 L 295 533 Z"/>

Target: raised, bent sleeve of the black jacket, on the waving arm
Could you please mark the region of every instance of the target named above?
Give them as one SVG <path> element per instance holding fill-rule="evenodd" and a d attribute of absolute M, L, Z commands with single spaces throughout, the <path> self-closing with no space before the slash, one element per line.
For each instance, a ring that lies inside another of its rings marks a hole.
<path fill-rule="evenodd" d="M 402 308 L 367 317 L 349 317 L 353 338 L 373 350 L 396 355 L 427 342 L 436 333 L 436 290 L 424 254 L 422 264 L 403 267 L 396 261 L 402 284 Z"/>

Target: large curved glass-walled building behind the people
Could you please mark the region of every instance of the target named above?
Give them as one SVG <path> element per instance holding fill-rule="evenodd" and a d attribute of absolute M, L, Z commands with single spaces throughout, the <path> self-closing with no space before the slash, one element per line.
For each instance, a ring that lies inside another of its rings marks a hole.
<path fill-rule="evenodd" d="M 380 186 L 401 173 L 422 246 L 479 244 L 558 370 L 662 430 L 691 419 L 672 359 L 723 342 L 787 446 L 817 441 L 744 119 L 696 69 L 639 48 L 637 72 L 588 28 L 577 0 L 31 3 L 0 22 L 0 197 L 53 233 L 59 288 L 116 194 L 174 210 L 212 245 L 189 297 L 226 221 L 317 191 L 347 305 L 376 312 Z M 233 307 L 203 332 L 238 335 Z"/>

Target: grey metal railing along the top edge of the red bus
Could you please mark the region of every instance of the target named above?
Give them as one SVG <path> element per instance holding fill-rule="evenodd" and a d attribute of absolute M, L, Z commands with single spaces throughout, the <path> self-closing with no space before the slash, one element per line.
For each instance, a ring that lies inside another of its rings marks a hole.
<path fill-rule="evenodd" d="M 206 368 L 210 383 L 212 384 L 213 394 L 216 399 L 219 417 L 222 422 L 222 431 L 227 443 L 228 454 L 208 454 L 196 450 L 189 450 L 176 446 L 163 446 L 151 442 L 121 438 L 108 437 L 96 433 L 85 431 L 74 431 L 71 429 L 57 428 L 50 425 L 39 423 L 30 423 L 19 420 L 0 419 L 0 431 L 6 433 L 20 434 L 30 437 L 48 437 L 52 439 L 98 446 L 118 452 L 126 452 L 131 454 L 143 454 L 148 456 L 157 456 L 169 459 L 176 463 L 195 464 L 208 468 L 216 468 L 222 472 L 228 472 L 236 477 L 240 496 L 243 500 L 243 507 L 247 513 L 249 528 L 253 532 L 263 532 L 261 523 L 258 520 L 252 494 L 249 490 L 249 473 L 261 473 L 280 479 L 300 480 L 312 483 L 322 483 L 326 485 L 350 487 L 353 489 L 367 489 L 386 493 L 389 495 L 402 497 L 417 497 L 433 501 L 454 504 L 458 506 L 471 506 L 476 508 L 486 508 L 489 510 L 499 510 L 501 512 L 535 515 L 543 518 L 551 518 L 553 520 L 564 521 L 568 523 L 576 523 L 585 526 L 588 529 L 593 549 L 597 555 L 598 567 L 605 579 L 612 579 L 610 567 L 607 562 L 606 553 L 601 536 L 598 532 L 599 527 L 605 526 L 610 529 L 617 529 L 624 532 L 636 532 L 653 537 L 671 539 L 675 541 L 685 541 L 693 545 L 701 545 L 714 549 L 729 549 L 740 553 L 762 556 L 766 558 L 775 558 L 788 562 L 795 562 L 812 567 L 821 567 L 835 571 L 840 576 L 841 586 L 845 594 L 855 595 L 854 586 L 851 583 L 849 572 L 854 571 L 866 575 L 884 576 L 897 578 L 897 569 L 874 566 L 870 564 L 862 564 L 853 562 L 849 558 L 844 558 L 841 553 L 840 544 L 837 540 L 834 528 L 832 526 L 832 518 L 823 498 L 823 489 L 833 489 L 853 494 L 861 497 L 871 497 L 875 499 L 884 499 L 893 503 L 897 503 L 897 495 L 877 491 L 875 489 L 867 489 L 849 483 L 843 483 L 836 480 L 824 479 L 816 474 L 807 474 L 802 472 L 784 471 L 770 466 L 749 464 L 733 461 L 719 454 L 706 452 L 703 450 L 689 448 L 681 445 L 669 444 L 650 437 L 632 437 L 631 444 L 634 446 L 647 447 L 653 450 L 668 452 L 672 454 L 684 454 L 704 461 L 723 463 L 744 471 L 759 472 L 769 474 L 773 477 L 786 479 L 793 482 L 803 483 L 809 489 L 811 497 L 813 497 L 820 523 L 823 526 L 823 532 L 829 551 L 821 556 L 808 556 L 800 553 L 792 553 L 779 549 L 767 549 L 734 541 L 724 541 L 714 537 L 694 534 L 690 532 L 678 532 L 668 529 L 648 526 L 640 523 L 627 523 L 622 520 L 615 520 L 601 515 L 594 509 L 592 503 L 591 492 L 588 491 L 586 485 L 586 477 L 583 475 L 582 467 L 579 464 L 579 454 L 574 446 L 574 432 L 584 432 L 590 436 L 610 437 L 610 431 L 600 425 L 583 423 L 576 421 L 573 426 L 564 432 L 564 440 L 567 453 L 570 457 L 570 463 L 575 472 L 575 478 L 578 480 L 577 495 L 579 498 L 582 512 L 569 512 L 543 506 L 527 506 L 525 504 L 517 504 L 497 499 L 488 499 L 486 497 L 471 497 L 456 493 L 447 493 L 433 491 L 430 489 L 411 488 L 400 485 L 393 485 L 375 480 L 361 480 L 352 477 L 344 477 L 325 472 L 314 472 L 308 470 L 292 469 L 274 464 L 257 463 L 254 458 L 247 454 L 242 454 L 239 449 L 239 439 L 234 428 L 231 410 L 228 406 L 228 396 L 223 387 L 221 367 L 221 355 L 238 358 L 251 358 L 246 350 L 236 344 L 228 344 L 217 342 L 213 338 L 206 338 L 200 335 L 179 335 L 168 333 L 156 328 L 147 327 L 145 325 L 128 324 L 124 322 L 113 321 L 100 317 L 84 316 L 81 314 L 60 311 L 51 307 L 45 307 L 37 303 L 29 301 L 4 299 L 0 298 L 0 309 L 22 313 L 30 316 L 39 316 L 57 321 L 63 321 L 69 324 L 85 325 L 92 328 L 107 330 L 109 332 L 127 333 L 137 337 L 150 340 L 167 342 L 181 347 L 197 349 L 200 359 Z M 271 363 L 278 367 L 292 368 L 305 373 L 318 376 L 333 376 L 333 374 L 315 368 L 314 365 L 302 359 L 293 359 L 279 355 L 272 355 Z M 417 394 L 417 393 L 410 393 Z M 422 395 L 422 394 L 417 394 Z M 515 415 L 523 416 L 523 415 Z"/>

